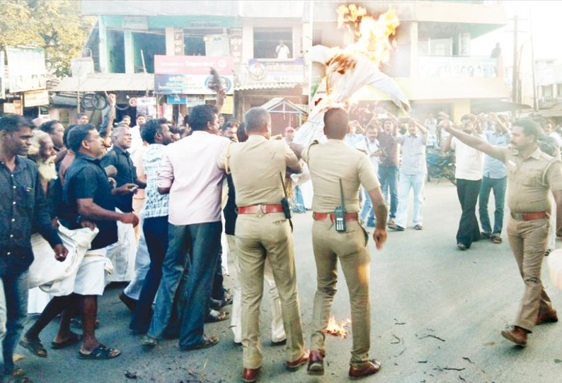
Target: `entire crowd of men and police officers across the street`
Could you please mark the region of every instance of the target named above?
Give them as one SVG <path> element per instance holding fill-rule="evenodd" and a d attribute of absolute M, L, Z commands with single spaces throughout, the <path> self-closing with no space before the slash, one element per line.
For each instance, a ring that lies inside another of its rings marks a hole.
<path fill-rule="evenodd" d="M 115 104 L 115 99 L 110 101 Z M 59 315 L 52 348 L 80 344 L 78 357 L 88 360 L 120 355 L 96 338 L 98 297 L 108 283 L 130 281 L 120 299 L 132 312 L 130 330 L 142 336 L 142 346 L 154 348 L 166 337 L 178 338 L 185 351 L 212 347 L 219 339 L 205 334 L 205 323 L 231 319 L 234 343 L 243 346 L 243 380 L 256 382 L 263 360 L 258 334 L 265 281 L 273 306 L 272 342 L 285 346 L 287 369 L 307 364 L 309 374 L 322 375 L 338 260 L 351 304 L 349 376 L 378 372 L 381 363 L 369 359 L 365 228 L 374 228 L 377 248 L 386 241 L 387 226 L 406 230 L 413 191 L 413 228 L 423 230 L 428 145 L 442 145 L 456 154 L 462 208 L 459 249 L 469 249 L 482 237 L 502 241 L 506 184 L 516 190 L 507 196 L 507 232 L 527 289 L 514 328 L 503 336 L 524 346 L 535 324 L 557 320 L 540 281 L 551 219 L 562 218 L 562 208 L 554 214 L 547 196 L 552 190 L 562 206 L 556 148 L 562 139 L 552 136 L 552 126 L 548 131 L 550 122 L 544 127 L 550 139 L 544 139 L 532 119 L 511 124 L 495 114 L 467 114 L 457 129 L 443 112 L 422 124 L 389 112 L 368 118 L 356 113 L 350 121 L 348 111 L 331 108 L 323 117 L 326 141 L 300 146 L 293 142 L 291 127 L 285 129 L 285 139 L 271 136 L 267 110 L 252 108 L 243 123 L 220 122 L 220 104 L 194 107 L 183 129 L 142 114 L 133 127 L 130 117 L 115 127 L 109 118 L 100 129 L 88 124 L 86 114 L 66 129 L 56 120 L 35 127 L 23 117 L 0 118 L 0 192 L 7 196 L 0 204 L 0 219 L 6 223 L 0 228 L 6 374 L 23 375 L 13 363 L 18 343 L 47 357 L 40 332 Z M 312 243 L 318 283 L 310 350 L 304 346 L 287 199 L 298 195 L 292 193 L 298 191 L 296 185 L 287 190 L 290 174 L 304 168 L 314 189 Z M 493 227 L 488 217 L 492 190 Z M 534 198 L 525 200 L 528 194 Z M 476 219 L 478 195 L 482 232 Z M 74 290 L 52 297 L 23 333 L 28 269 L 34 259 L 31 236 L 42 236 L 55 258 L 64 261 L 69 252 L 59 225 L 95 235 L 70 277 Z M 556 221 L 552 226 L 559 235 Z M 236 269 L 232 293 L 223 283 L 227 254 Z M 222 310 L 226 305 L 233 305 L 230 313 Z M 73 322 L 82 334 L 71 331 Z"/>

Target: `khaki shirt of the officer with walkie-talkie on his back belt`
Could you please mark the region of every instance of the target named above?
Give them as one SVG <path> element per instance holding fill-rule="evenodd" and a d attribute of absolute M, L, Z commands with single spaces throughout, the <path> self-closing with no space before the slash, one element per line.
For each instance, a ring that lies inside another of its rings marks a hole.
<path fill-rule="evenodd" d="M 340 206 L 340 179 L 348 213 L 359 211 L 360 185 L 367 190 L 381 186 L 369 156 L 351 148 L 343 140 L 311 143 L 303 151 L 302 159 L 309 164 L 314 187 L 312 210 L 319 213 L 331 213 Z"/>

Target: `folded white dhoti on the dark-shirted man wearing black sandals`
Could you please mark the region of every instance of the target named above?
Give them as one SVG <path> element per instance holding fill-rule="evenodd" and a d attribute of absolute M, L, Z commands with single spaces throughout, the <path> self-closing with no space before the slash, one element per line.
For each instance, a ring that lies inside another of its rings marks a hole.
<path fill-rule="evenodd" d="M 103 295 L 106 269 L 111 261 L 105 257 L 107 248 L 88 250 L 76 273 L 74 293 L 79 295 Z"/>

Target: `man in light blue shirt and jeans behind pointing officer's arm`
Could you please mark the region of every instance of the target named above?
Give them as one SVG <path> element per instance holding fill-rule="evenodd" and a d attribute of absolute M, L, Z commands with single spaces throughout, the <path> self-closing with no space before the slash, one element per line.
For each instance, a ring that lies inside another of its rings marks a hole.
<path fill-rule="evenodd" d="M 485 132 L 486 141 L 495 146 L 507 146 L 510 143 L 510 133 L 507 130 L 507 126 L 495 113 L 490 113 L 488 116 L 495 124 L 495 129 Z M 502 243 L 501 232 L 503 228 L 503 206 L 506 186 L 507 169 L 504 163 L 486 154 L 484 156 L 482 184 L 478 196 L 480 224 L 482 225 L 482 237 L 490 238 L 492 242 L 497 244 Z M 493 231 L 490 217 L 488 216 L 488 200 L 492 190 L 495 201 Z"/>

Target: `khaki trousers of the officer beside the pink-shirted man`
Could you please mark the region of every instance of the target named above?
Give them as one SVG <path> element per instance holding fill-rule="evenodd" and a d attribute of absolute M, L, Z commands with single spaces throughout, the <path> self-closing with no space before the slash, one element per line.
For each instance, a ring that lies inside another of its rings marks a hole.
<path fill-rule="evenodd" d="M 241 214 L 236 218 L 236 249 L 242 283 L 242 345 L 244 368 L 261 367 L 260 302 L 267 257 L 279 290 L 283 326 L 287 333 L 287 360 L 304 352 L 301 312 L 294 270 L 293 237 L 283 213 Z"/>

